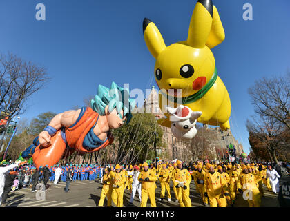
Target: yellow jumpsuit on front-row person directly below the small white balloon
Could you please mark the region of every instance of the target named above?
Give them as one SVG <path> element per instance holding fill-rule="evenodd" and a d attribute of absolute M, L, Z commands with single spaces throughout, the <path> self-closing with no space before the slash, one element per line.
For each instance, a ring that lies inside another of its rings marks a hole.
<path fill-rule="evenodd" d="M 191 183 L 191 174 L 186 169 L 175 169 L 175 173 L 173 173 L 173 185 L 177 186 L 180 182 L 185 182 L 184 187 L 177 187 L 177 199 L 180 203 L 180 207 L 191 207 L 191 198 L 189 198 L 189 184 Z"/>

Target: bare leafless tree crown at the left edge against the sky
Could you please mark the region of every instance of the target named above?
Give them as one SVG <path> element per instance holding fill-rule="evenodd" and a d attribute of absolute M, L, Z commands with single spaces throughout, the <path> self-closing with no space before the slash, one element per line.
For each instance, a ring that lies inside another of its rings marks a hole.
<path fill-rule="evenodd" d="M 48 80 L 45 68 L 10 53 L 0 54 L 1 111 L 10 111 L 10 119 L 23 113 L 28 97 L 43 88 Z"/>

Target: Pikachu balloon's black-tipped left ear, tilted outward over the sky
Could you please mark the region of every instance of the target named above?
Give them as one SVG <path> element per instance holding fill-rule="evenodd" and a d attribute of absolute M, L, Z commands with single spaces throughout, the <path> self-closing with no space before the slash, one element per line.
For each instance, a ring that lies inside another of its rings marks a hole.
<path fill-rule="evenodd" d="M 166 45 L 158 28 L 147 18 L 143 21 L 143 34 L 147 48 L 156 59 L 160 52 L 166 48 Z"/>

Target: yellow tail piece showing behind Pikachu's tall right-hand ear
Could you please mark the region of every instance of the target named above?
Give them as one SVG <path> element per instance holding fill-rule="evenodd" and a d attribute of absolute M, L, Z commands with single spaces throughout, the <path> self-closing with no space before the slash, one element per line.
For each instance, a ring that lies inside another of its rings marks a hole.
<path fill-rule="evenodd" d="M 218 15 L 218 9 L 213 6 L 213 23 L 211 25 L 211 32 L 209 38 L 206 41 L 206 46 L 213 48 L 218 46 L 224 41 L 224 27 L 222 27 L 222 21 L 220 21 L 220 15 Z"/>

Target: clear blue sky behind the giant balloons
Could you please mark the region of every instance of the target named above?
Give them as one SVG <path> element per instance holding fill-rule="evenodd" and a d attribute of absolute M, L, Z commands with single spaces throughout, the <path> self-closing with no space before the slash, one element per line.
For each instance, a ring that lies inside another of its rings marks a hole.
<path fill-rule="evenodd" d="M 46 21 L 35 6 L 46 6 Z M 166 46 L 186 39 L 195 0 L 1 0 L 0 51 L 44 66 L 52 77 L 28 100 L 21 118 L 81 106 L 97 86 L 129 83 L 157 88 L 155 59 L 146 48 L 142 21 L 151 19 Z M 213 48 L 218 73 L 231 97 L 231 131 L 249 153 L 245 122 L 253 114 L 247 89 L 262 77 L 283 75 L 290 64 L 288 0 L 213 0 L 226 39 Z M 244 21 L 243 5 L 253 6 Z"/>

